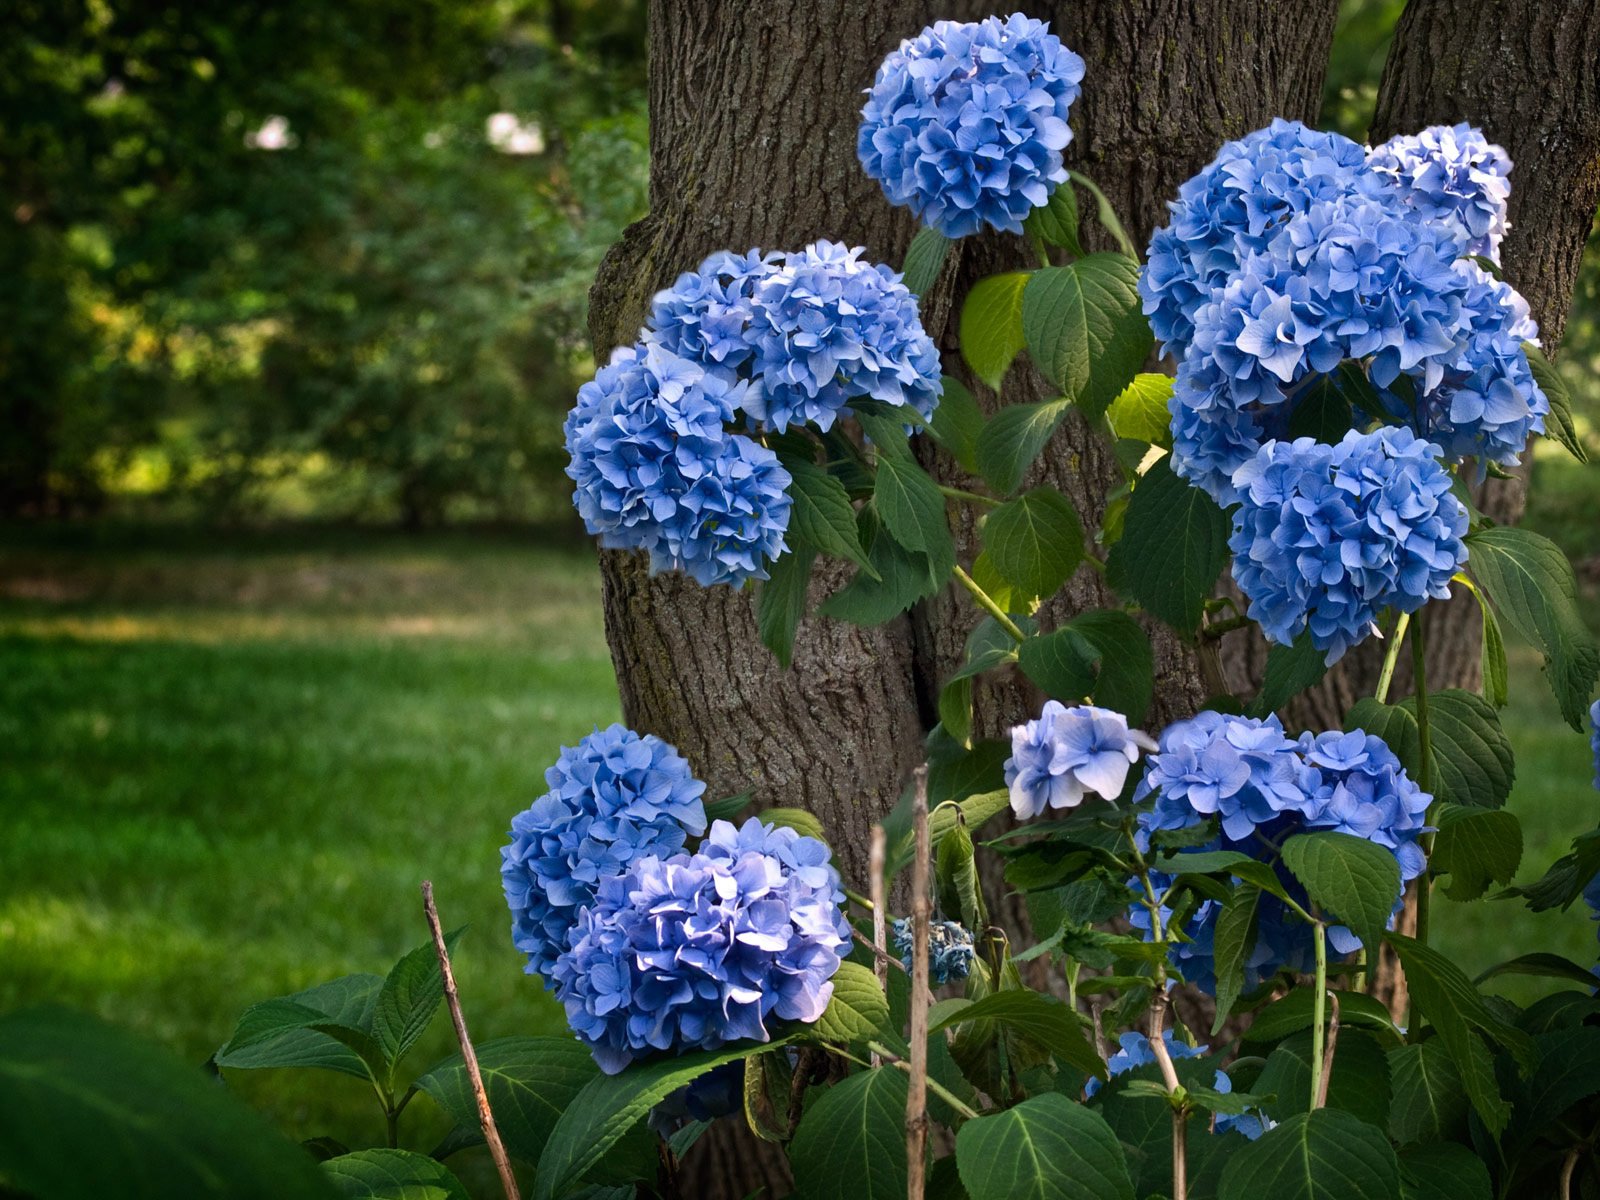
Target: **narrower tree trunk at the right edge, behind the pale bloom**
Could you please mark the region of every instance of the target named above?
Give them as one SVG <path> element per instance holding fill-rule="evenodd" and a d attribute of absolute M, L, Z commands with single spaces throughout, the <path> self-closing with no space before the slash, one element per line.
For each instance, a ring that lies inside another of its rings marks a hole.
<path fill-rule="evenodd" d="M 1600 0 L 1411 0 L 1384 67 L 1371 139 L 1462 120 L 1510 154 L 1510 234 L 1501 259 L 1554 355 L 1600 205 Z M 1480 488 L 1478 506 L 1515 522 L 1526 483 L 1525 461 L 1515 478 Z M 1469 595 L 1429 610 L 1429 688 L 1478 686 L 1478 622 Z M 1306 698 L 1304 714 L 1317 726 L 1371 694 L 1381 650 L 1362 650 Z M 1410 656 L 1400 658 L 1397 696 L 1411 686 Z M 1374 992 L 1403 1016 L 1405 979 L 1387 950 Z"/>

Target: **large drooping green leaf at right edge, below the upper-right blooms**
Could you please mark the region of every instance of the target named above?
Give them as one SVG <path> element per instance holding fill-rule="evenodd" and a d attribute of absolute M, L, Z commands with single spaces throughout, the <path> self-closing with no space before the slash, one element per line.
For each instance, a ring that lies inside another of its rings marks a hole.
<path fill-rule="evenodd" d="M 1560 547 L 1509 525 L 1467 538 L 1467 570 L 1496 611 L 1544 654 L 1562 715 L 1582 730 L 1600 677 L 1600 646 L 1578 606 L 1578 581 Z"/>

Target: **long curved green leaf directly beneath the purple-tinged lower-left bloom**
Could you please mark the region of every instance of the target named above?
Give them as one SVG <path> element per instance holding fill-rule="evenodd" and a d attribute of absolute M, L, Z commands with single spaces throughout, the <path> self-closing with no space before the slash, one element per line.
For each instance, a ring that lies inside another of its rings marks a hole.
<path fill-rule="evenodd" d="M 584 1085 L 550 1130 L 539 1157 L 533 1200 L 555 1200 L 584 1178 L 645 1114 L 686 1083 L 723 1062 L 774 1050 L 789 1038 L 742 1043 L 718 1051 L 696 1051 L 635 1062 L 619 1075 L 600 1075 Z"/>

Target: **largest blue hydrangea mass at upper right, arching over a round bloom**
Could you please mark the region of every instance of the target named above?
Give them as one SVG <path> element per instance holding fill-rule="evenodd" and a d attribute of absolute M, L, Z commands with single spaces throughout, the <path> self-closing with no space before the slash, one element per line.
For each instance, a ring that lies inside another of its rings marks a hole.
<path fill-rule="evenodd" d="M 1515 464 L 1542 432 L 1526 304 L 1408 197 L 1355 142 L 1294 122 L 1229 142 L 1184 184 L 1141 275 L 1152 328 L 1179 357 L 1178 474 L 1234 504 L 1238 467 L 1344 362 L 1392 421 L 1480 472 Z"/>

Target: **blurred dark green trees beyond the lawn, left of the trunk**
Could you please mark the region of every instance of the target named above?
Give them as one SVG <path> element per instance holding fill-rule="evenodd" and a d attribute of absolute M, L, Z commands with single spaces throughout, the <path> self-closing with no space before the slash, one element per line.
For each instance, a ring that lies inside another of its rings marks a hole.
<path fill-rule="evenodd" d="M 43 3 L 0 40 L 0 515 L 560 512 L 643 5 Z"/>

